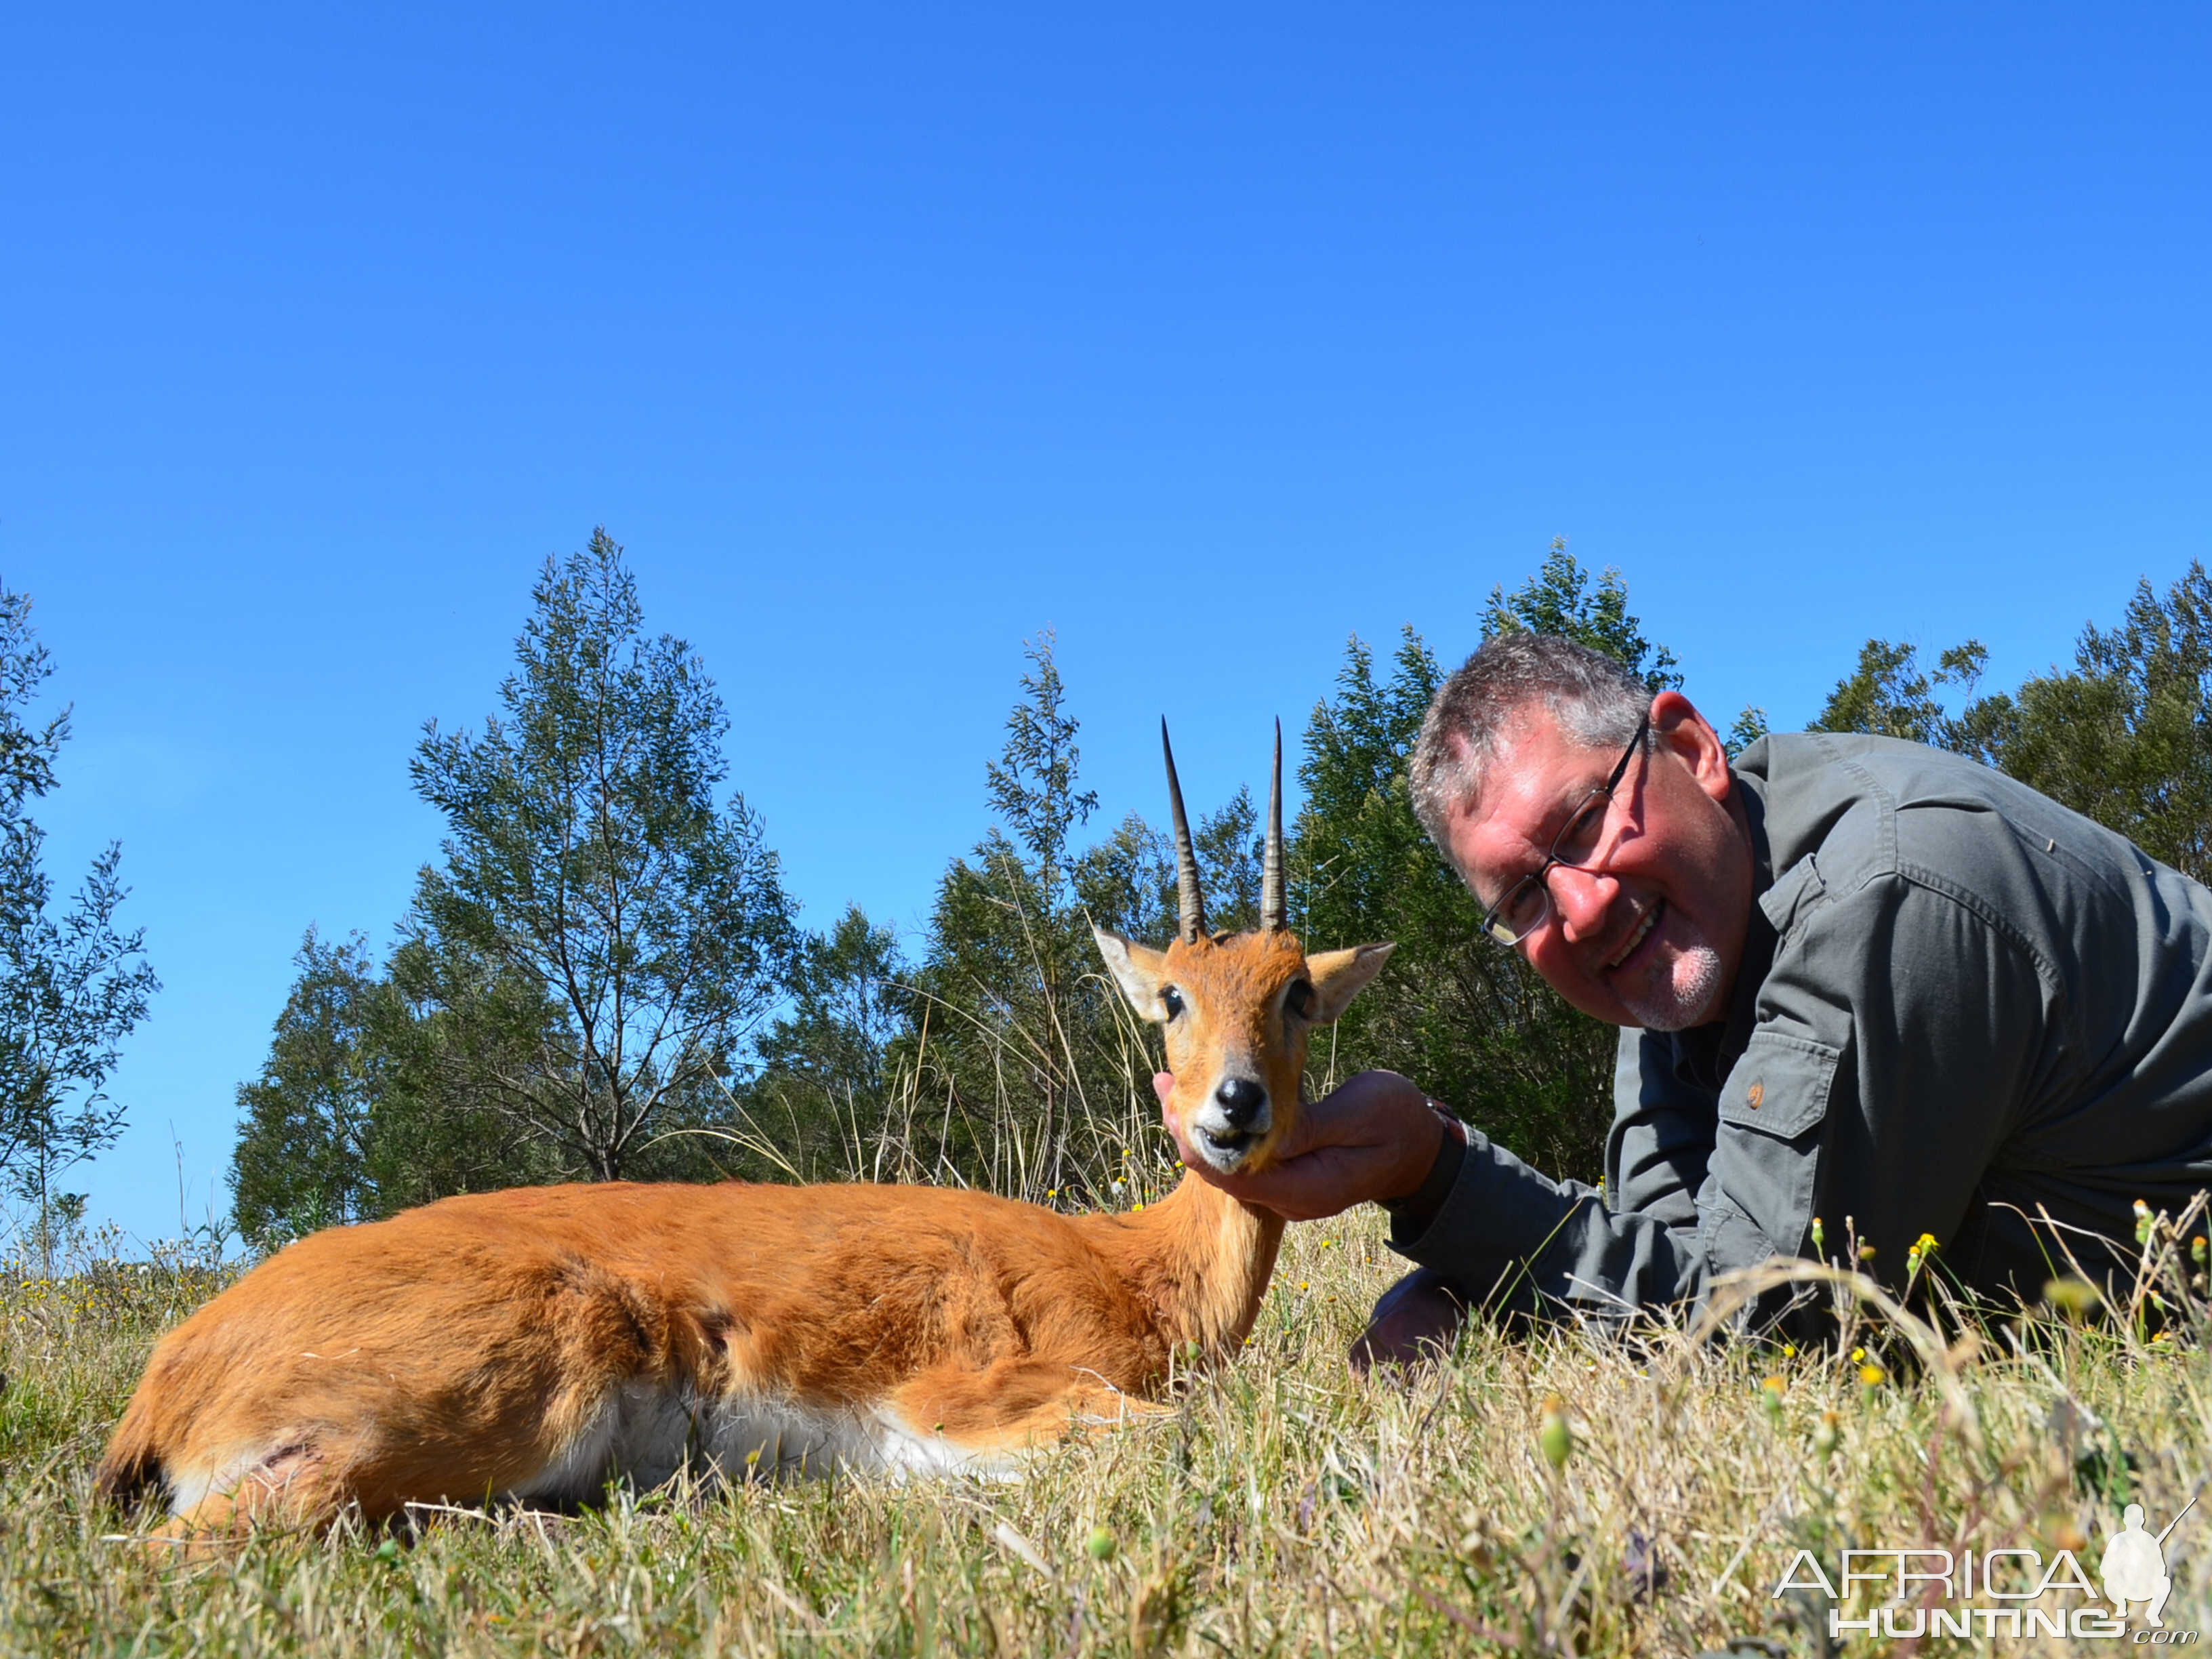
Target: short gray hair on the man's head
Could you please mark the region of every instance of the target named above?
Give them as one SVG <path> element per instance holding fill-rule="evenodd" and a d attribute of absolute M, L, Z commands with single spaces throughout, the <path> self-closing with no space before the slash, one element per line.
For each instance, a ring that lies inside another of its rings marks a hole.
<path fill-rule="evenodd" d="M 1635 737 L 1652 688 L 1628 664 L 1573 639 L 1522 630 L 1484 639 L 1438 686 L 1413 741 L 1413 816 L 1447 863 L 1458 863 L 1447 834 L 1453 807 L 1482 790 L 1482 770 L 1531 703 L 1573 741 L 1604 748 Z"/>

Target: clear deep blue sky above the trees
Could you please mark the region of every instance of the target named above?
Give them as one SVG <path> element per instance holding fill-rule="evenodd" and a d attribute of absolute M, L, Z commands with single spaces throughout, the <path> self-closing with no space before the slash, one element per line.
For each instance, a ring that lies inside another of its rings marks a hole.
<path fill-rule="evenodd" d="M 920 920 L 1044 624 L 1108 821 L 1555 533 L 1723 723 L 2068 657 L 2208 549 L 2208 18 L 11 9 L 0 577 L 166 982 L 95 1219 L 223 1206 L 597 522 L 814 922 Z"/>

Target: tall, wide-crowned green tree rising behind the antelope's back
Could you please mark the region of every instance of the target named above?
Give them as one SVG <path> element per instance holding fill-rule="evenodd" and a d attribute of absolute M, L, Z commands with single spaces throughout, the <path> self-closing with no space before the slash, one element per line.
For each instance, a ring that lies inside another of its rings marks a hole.
<path fill-rule="evenodd" d="M 480 964 L 471 995 L 549 1009 L 529 1066 L 478 1075 L 566 1170 L 608 1181 L 712 1115 L 796 940 L 759 821 L 739 794 L 714 801 L 730 726 L 714 681 L 681 639 L 644 635 L 622 549 L 595 531 L 546 560 L 533 599 L 504 719 L 431 721 L 416 750 L 447 838 L 407 933 L 436 964 Z M 451 978 L 425 987 L 471 1006 Z"/>

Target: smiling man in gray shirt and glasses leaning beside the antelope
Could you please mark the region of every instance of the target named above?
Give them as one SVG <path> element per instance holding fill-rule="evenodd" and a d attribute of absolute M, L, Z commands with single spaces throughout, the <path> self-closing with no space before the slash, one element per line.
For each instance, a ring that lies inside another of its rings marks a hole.
<path fill-rule="evenodd" d="M 1601 1192 L 1462 1130 L 1396 1073 L 1316 1102 L 1292 1219 L 1391 1210 L 1420 1263 L 1356 1360 L 1464 1303 L 1626 1312 L 1770 1256 L 1900 1281 L 1920 1234 L 1986 1294 L 2132 1259 L 2135 1203 L 2212 1188 L 2212 891 L 1955 754 L 1796 734 L 1734 765 L 1679 692 L 1502 635 L 1436 695 L 1422 825 L 1484 931 L 1624 1026 Z M 1818 1221 L 1816 1221 L 1818 1219 Z"/>

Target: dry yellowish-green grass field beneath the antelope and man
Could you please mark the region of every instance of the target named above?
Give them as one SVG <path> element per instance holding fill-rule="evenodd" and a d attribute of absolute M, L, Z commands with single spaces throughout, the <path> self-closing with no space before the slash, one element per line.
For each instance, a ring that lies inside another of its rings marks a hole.
<path fill-rule="evenodd" d="M 7 1652 L 1820 1652 L 1803 1546 L 2075 1548 L 2163 1526 L 2212 1453 L 2192 1338 L 1997 1327 L 1916 1365 L 1849 1352 L 1478 1332 L 1411 1387 L 1340 1354 L 1396 1272 L 1371 1221 L 1294 1228 L 1243 1360 L 1181 1411 L 1022 1482 L 818 1480 L 429 1513 L 411 1540 L 263 1535 L 212 1562 L 119 1542 L 88 1475 L 153 1338 L 215 1287 L 179 1261 L 0 1283 Z M 1885 1374 L 1865 1371 L 1885 1365 Z M 2062 1402 L 2075 1409 L 2057 1409 Z M 1551 1411 L 1546 1409 L 1551 1402 Z M 1555 1471 L 1544 1455 L 1564 1451 Z M 2166 1624 L 2212 1626 L 2212 1513 L 2168 1542 Z M 1845 1604 L 1863 1617 L 1860 1590 Z M 2051 1593 L 2028 1606 L 2081 1606 Z M 1980 1601 L 1980 1606 L 2004 1606 Z M 2017 1606 L 2017 1604 L 2015 1604 Z M 2101 1604 L 2099 1604 L 2101 1606 Z M 2135 1626 L 2130 1624 L 2130 1630 Z M 2081 1652 L 2046 1637 L 1878 1650 Z"/>

